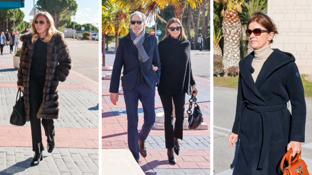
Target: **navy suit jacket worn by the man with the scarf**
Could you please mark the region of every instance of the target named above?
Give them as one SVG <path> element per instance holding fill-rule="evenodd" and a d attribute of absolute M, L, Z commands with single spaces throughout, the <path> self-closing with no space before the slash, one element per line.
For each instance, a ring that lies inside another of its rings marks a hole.
<path fill-rule="evenodd" d="M 138 77 L 139 67 L 141 68 L 145 82 L 149 85 L 149 87 L 153 89 L 155 87 L 155 83 L 159 84 L 161 63 L 158 53 L 157 38 L 146 32 L 145 35 L 143 47 L 146 54 L 149 56 L 149 59 L 145 62 L 139 61 L 138 50 L 131 40 L 130 33 L 119 40 L 110 79 L 111 93 L 118 93 L 119 79 L 123 66 L 124 72 L 121 77 L 121 83 L 124 89 L 131 91 L 134 88 Z M 152 70 L 152 64 L 158 67 L 156 72 Z"/>

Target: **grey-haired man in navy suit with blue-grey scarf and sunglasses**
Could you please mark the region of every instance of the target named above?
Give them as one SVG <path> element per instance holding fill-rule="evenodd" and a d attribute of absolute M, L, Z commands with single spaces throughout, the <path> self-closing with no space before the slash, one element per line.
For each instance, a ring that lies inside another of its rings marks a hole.
<path fill-rule="evenodd" d="M 119 40 L 110 79 L 110 100 L 118 102 L 119 79 L 124 91 L 128 120 L 128 146 L 137 163 L 139 153 L 146 157 L 145 140 L 155 123 L 155 88 L 160 78 L 157 39 L 145 32 L 146 17 L 141 12 L 130 15 L 131 30 Z M 138 102 L 142 102 L 144 124 L 138 133 Z"/>

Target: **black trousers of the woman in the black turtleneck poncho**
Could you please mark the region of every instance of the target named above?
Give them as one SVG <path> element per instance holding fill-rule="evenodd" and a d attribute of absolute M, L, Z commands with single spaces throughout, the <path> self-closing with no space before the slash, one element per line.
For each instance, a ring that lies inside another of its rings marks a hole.
<path fill-rule="evenodd" d="M 173 128 L 173 106 L 175 107 L 176 121 Z M 174 147 L 173 137 L 183 139 L 183 121 L 185 110 L 185 93 L 160 95 L 161 103 L 163 104 L 163 111 L 165 113 L 165 140 L 166 148 Z"/>

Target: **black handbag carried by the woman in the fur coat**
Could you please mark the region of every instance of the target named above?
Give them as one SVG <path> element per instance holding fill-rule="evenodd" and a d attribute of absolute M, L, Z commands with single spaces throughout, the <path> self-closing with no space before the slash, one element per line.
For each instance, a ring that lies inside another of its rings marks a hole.
<path fill-rule="evenodd" d="M 20 97 L 17 100 L 18 92 L 20 94 Z M 13 106 L 10 123 L 12 125 L 23 126 L 26 123 L 24 96 L 21 97 L 21 88 L 18 89 L 18 92 L 16 95 L 15 106 Z"/>

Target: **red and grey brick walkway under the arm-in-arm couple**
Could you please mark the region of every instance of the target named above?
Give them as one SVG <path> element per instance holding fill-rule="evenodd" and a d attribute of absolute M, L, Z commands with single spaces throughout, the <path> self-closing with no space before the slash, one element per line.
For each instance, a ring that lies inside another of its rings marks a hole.
<path fill-rule="evenodd" d="M 106 52 L 105 65 L 113 66 L 115 54 Z M 102 75 L 111 71 L 102 71 Z M 210 127 L 210 81 L 194 77 L 199 95 L 197 103 L 201 107 L 204 115 L 204 122 Z M 117 106 L 110 102 L 109 93 L 110 80 L 102 80 L 102 149 L 126 149 L 127 141 L 127 113 L 125 108 L 124 96 L 119 95 Z M 119 86 L 121 87 L 121 81 Z M 158 91 L 155 93 L 155 111 L 163 112 Z M 186 107 L 190 96 L 186 95 Z M 138 107 L 139 124 L 143 124 L 142 103 Z M 210 174 L 210 130 L 183 130 L 183 140 L 180 155 L 175 155 L 177 164 L 168 163 L 167 149 L 165 148 L 164 130 L 151 130 L 146 147 L 148 156 L 140 157 L 140 166 L 145 174 L 165 175 L 165 174 Z"/>

